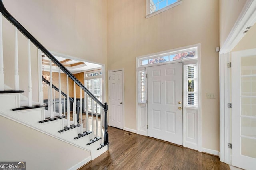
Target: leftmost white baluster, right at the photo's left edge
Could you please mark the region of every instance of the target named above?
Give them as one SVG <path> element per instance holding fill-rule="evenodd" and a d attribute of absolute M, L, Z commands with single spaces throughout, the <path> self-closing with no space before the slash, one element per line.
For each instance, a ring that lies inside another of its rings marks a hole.
<path fill-rule="evenodd" d="M 4 51 L 3 51 L 3 22 L 0 12 L 0 90 L 4 90 Z"/>

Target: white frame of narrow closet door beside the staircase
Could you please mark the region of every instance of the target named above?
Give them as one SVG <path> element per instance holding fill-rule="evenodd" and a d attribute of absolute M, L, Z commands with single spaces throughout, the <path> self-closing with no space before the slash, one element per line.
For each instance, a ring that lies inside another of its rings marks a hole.
<path fill-rule="evenodd" d="M 124 102 L 124 68 L 121 69 L 116 69 L 116 70 L 108 70 L 108 106 L 110 108 L 111 102 L 110 102 L 110 72 L 116 72 L 116 71 L 122 71 L 122 77 L 123 77 L 123 86 L 122 86 L 122 93 L 123 93 L 123 130 L 126 130 L 125 125 L 124 125 L 124 106 L 125 106 L 125 102 Z M 109 115 L 108 115 L 108 126 L 111 126 L 110 123 L 110 110 L 108 111 Z M 130 131 L 130 129 L 127 129 L 127 131 Z"/>

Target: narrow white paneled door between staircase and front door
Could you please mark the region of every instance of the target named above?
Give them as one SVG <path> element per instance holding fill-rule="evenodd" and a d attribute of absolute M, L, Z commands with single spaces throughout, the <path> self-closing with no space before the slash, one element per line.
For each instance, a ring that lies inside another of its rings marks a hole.
<path fill-rule="evenodd" d="M 123 129 L 123 71 L 110 72 L 110 126 Z"/>

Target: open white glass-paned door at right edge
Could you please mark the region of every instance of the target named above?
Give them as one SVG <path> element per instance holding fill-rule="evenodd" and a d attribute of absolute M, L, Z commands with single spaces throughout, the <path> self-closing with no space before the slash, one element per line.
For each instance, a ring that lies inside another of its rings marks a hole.
<path fill-rule="evenodd" d="M 256 49 L 232 53 L 232 165 L 256 169 Z"/>

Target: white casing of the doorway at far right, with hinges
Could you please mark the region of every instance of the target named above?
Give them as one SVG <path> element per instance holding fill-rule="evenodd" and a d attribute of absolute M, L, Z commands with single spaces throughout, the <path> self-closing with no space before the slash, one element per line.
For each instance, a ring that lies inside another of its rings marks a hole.
<path fill-rule="evenodd" d="M 247 0 L 240 16 L 238 17 L 234 27 L 230 31 L 223 47 L 219 52 L 219 72 L 220 72 L 220 152 L 221 162 L 231 164 L 231 149 L 228 143 L 231 142 L 231 109 L 227 107 L 231 103 L 230 89 L 230 68 L 227 64 L 230 62 L 230 53 L 232 49 L 244 37 L 244 30 L 248 26 L 256 23 L 256 1 Z"/>

